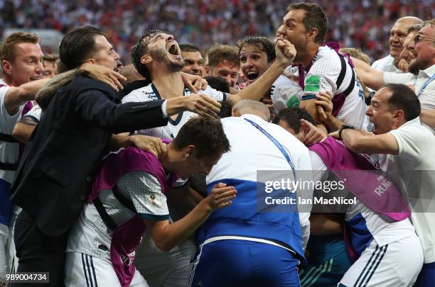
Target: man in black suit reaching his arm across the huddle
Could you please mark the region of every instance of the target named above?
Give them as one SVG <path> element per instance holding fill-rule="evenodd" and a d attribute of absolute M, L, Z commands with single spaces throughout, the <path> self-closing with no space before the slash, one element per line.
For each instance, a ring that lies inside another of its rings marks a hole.
<path fill-rule="evenodd" d="M 68 69 L 85 62 L 114 69 L 119 63 L 112 45 L 91 26 L 65 35 L 60 59 Z M 50 272 L 50 286 L 63 286 L 68 230 L 80 215 L 109 137 L 166 125 L 168 116 L 183 110 L 202 114 L 216 110 L 210 98 L 188 98 L 121 105 L 113 102 L 111 86 L 84 76 L 58 89 L 26 147 L 11 188 L 12 201 L 23 208 L 15 225 L 18 272 Z"/>

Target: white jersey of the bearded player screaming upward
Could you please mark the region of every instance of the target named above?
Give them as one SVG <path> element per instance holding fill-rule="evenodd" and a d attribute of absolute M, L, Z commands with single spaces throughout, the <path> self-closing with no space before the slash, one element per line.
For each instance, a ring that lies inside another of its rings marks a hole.
<path fill-rule="evenodd" d="M 210 88 L 210 86 L 207 86 L 205 91 L 203 91 L 202 93 L 208 94 L 208 96 L 212 97 L 216 101 L 225 101 L 227 99 L 227 95 L 225 93 L 223 93 L 222 91 L 217 91 L 215 89 L 212 89 Z M 189 96 L 189 95 L 190 95 L 190 90 L 187 88 L 184 89 L 183 96 Z M 144 86 L 143 88 L 131 91 L 130 94 L 122 98 L 122 103 L 139 102 L 139 101 L 156 101 L 160 99 L 161 96 L 159 94 L 159 91 L 157 91 L 156 86 L 154 86 L 154 84 L 151 83 L 148 86 Z M 193 118 L 194 116 L 198 116 L 198 115 L 190 111 L 184 111 L 182 113 L 178 113 L 176 120 L 173 120 L 171 117 L 169 117 L 168 125 L 164 127 L 149 128 L 147 130 L 137 131 L 137 133 L 140 133 L 141 135 L 163 137 L 169 140 L 173 140 L 178 135 L 178 131 L 181 129 L 181 127 L 188 120 L 190 120 L 190 118 Z"/>

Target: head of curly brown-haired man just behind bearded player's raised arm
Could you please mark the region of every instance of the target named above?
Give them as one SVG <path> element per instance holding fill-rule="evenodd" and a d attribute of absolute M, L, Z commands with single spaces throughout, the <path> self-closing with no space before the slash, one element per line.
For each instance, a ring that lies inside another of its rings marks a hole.
<path fill-rule="evenodd" d="M 230 87 L 236 89 L 240 69 L 237 47 L 215 45 L 208 50 L 207 57 L 208 63 L 205 65 L 205 73 L 226 79 Z"/>

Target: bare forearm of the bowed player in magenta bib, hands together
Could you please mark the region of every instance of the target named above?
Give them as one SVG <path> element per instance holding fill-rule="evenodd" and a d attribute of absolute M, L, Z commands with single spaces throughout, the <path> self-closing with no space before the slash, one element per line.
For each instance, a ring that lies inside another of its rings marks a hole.
<path fill-rule="evenodd" d="M 205 202 L 201 201 L 198 206 L 195 206 L 188 215 L 181 218 L 181 220 L 175 223 L 168 224 L 159 232 L 159 236 L 154 236 L 154 242 L 156 242 L 159 249 L 169 251 L 176 247 L 178 244 L 186 240 L 195 230 L 204 223 L 208 216 L 212 213 L 212 209 Z"/>

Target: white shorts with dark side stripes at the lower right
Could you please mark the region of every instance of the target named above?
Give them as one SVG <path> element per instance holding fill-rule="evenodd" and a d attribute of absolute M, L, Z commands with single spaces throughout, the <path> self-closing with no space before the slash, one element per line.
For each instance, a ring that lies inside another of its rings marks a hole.
<path fill-rule="evenodd" d="M 382 247 L 372 240 L 338 286 L 412 286 L 421 266 L 423 249 L 417 235 L 409 235 Z"/>

